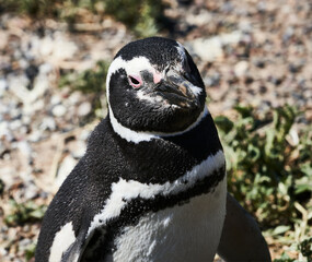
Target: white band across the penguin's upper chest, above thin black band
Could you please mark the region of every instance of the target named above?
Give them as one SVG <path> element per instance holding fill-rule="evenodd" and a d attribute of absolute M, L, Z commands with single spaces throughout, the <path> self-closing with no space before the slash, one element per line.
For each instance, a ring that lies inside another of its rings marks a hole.
<path fill-rule="evenodd" d="M 138 196 L 147 200 L 153 199 L 157 194 L 164 196 L 175 195 L 190 189 L 196 182 L 204 178 L 211 176 L 213 171 L 220 169 L 224 163 L 223 152 L 218 151 L 215 155 L 208 156 L 204 162 L 173 182 L 153 184 L 141 183 L 135 180 L 127 181 L 120 178 L 118 182 L 112 184 L 111 196 L 105 202 L 103 210 L 94 216 L 86 236 L 89 236 L 96 227 L 105 226 L 107 221 L 117 217 L 127 205 L 127 201 Z"/>

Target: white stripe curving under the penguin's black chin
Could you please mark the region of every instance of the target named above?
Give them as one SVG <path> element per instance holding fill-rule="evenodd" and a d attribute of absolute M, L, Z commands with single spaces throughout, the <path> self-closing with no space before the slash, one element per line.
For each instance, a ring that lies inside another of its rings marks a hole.
<path fill-rule="evenodd" d="M 203 118 L 205 118 L 206 116 L 210 114 L 207 107 L 204 107 L 204 110 L 201 111 L 197 120 L 193 124 L 190 124 L 187 129 L 181 132 L 174 132 L 174 133 L 161 133 L 161 132 L 155 133 L 155 132 L 148 132 L 148 131 L 140 132 L 140 131 L 135 131 L 129 128 L 126 128 L 122 123 L 119 123 L 118 120 L 115 118 L 111 106 L 108 106 L 108 111 L 109 111 L 111 123 L 112 123 L 112 127 L 115 133 L 117 133 L 120 138 L 127 140 L 128 142 L 132 142 L 135 144 L 138 144 L 143 141 L 150 141 L 152 139 L 160 139 L 161 136 L 163 138 L 174 136 L 174 135 L 186 133 L 190 131 L 192 129 L 194 129 L 201 121 Z"/>

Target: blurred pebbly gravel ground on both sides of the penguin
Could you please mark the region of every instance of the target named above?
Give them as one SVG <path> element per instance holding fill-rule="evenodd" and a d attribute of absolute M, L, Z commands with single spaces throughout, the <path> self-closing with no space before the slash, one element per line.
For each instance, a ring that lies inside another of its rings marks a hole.
<path fill-rule="evenodd" d="M 312 122 L 310 0 L 166 2 L 174 24 L 161 35 L 195 58 L 212 115 L 231 112 L 238 103 L 259 110 L 290 104 L 303 111 L 303 124 Z M 99 122 L 89 120 L 92 95 L 58 88 L 61 72 L 111 61 L 135 39 L 109 17 L 81 23 L 77 34 L 50 20 L 44 34 L 41 28 L 27 17 L 0 17 L 1 261 L 25 261 L 39 228 L 36 222 L 8 226 L 4 217 L 16 209 L 10 200 L 48 204 Z"/>

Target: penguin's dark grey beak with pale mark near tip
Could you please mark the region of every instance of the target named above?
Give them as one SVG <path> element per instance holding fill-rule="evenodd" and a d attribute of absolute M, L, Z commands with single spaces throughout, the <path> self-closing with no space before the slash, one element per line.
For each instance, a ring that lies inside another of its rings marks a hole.
<path fill-rule="evenodd" d="M 180 107 L 199 106 L 198 97 L 194 92 L 194 86 L 184 75 L 175 70 L 167 70 L 165 78 L 162 79 L 154 87 L 163 98 L 170 104 Z"/>

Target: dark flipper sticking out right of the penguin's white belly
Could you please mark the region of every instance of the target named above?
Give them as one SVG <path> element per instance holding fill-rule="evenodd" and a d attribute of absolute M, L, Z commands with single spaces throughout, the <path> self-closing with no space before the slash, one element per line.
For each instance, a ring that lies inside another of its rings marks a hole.
<path fill-rule="evenodd" d="M 229 193 L 217 253 L 226 261 L 271 261 L 255 219 Z"/>

